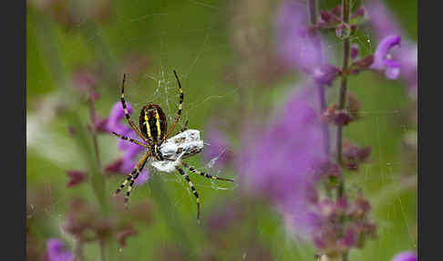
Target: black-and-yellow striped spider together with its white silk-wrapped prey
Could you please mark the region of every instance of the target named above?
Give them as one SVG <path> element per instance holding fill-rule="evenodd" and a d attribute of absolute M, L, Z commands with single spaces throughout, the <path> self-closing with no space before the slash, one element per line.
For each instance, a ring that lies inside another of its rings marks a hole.
<path fill-rule="evenodd" d="M 177 76 L 177 72 L 173 70 L 175 78 L 177 79 L 177 84 L 179 85 L 180 90 L 180 101 L 179 101 L 179 110 L 175 116 L 174 121 L 172 122 L 170 129 L 168 130 L 168 121 L 166 120 L 165 113 L 161 110 L 160 106 L 150 102 L 148 105 L 143 106 L 140 110 L 139 116 L 139 129 L 134 124 L 134 122 L 130 119 L 128 109 L 126 108 L 125 102 L 125 79 L 126 75 L 123 75 L 123 81 L 121 83 L 121 105 L 123 110 L 125 111 L 126 120 L 130 127 L 136 131 L 137 135 L 144 141 L 136 141 L 125 137 L 116 132 L 112 132 L 117 135 L 120 139 L 125 141 L 130 141 L 139 146 L 143 146 L 146 148 L 146 152 L 141 157 L 137 165 L 134 167 L 134 170 L 129 173 L 128 177 L 120 184 L 117 191 L 114 195 L 118 194 L 128 183 L 128 191 L 126 192 L 124 203 L 128 207 L 129 202 L 129 194 L 132 189 L 132 185 L 135 180 L 139 177 L 139 173 L 143 170 L 145 163 L 148 162 L 149 158 L 152 158 L 153 162 L 151 163 L 156 169 L 163 172 L 173 172 L 177 171 L 180 175 L 188 182 L 191 187 L 191 191 L 194 194 L 197 202 L 197 220 L 200 222 L 200 198 L 199 193 L 195 189 L 194 185 L 191 182 L 190 177 L 183 169 L 180 168 L 180 165 L 189 169 L 192 173 L 201 175 L 205 178 L 209 178 L 212 180 L 219 181 L 229 181 L 233 182 L 232 179 L 224 179 L 217 176 L 212 176 L 205 172 L 200 172 L 188 165 L 188 163 L 183 162 L 183 158 L 191 157 L 194 154 L 201 152 L 203 147 L 203 142 L 200 140 L 200 131 L 195 132 L 196 130 L 187 130 L 188 121 L 186 121 L 184 127 L 181 129 L 179 134 L 168 139 L 170 134 L 177 125 L 177 122 L 180 120 L 181 109 L 183 104 L 183 90 L 181 89 L 180 79 Z M 198 136 L 196 136 L 198 135 Z M 195 143 L 197 142 L 197 143 Z M 197 146 L 195 145 L 197 144 Z M 171 153 L 171 148 L 172 152 Z M 176 151 L 175 151 L 176 150 Z"/>

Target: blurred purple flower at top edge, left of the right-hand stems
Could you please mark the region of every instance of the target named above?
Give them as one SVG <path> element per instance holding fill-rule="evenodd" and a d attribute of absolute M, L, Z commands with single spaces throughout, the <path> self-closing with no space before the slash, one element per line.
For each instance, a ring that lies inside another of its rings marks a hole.
<path fill-rule="evenodd" d="M 285 1 L 277 14 L 277 45 L 291 66 L 305 73 L 312 73 L 322 62 L 321 42 L 307 28 L 307 7 L 304 4 Z"/>

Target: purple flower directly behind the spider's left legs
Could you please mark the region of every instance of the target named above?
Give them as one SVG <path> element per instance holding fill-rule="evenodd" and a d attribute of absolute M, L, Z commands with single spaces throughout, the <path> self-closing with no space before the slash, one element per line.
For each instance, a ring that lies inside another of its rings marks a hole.
<path fill-rule="evenodd" d="M 128 108 L 129 114 L 132 112 L 132 107 L 129 105 L 129 102 L 126 102 L 126 106 Z M 125 118 L 125 111 L 123 110 L 121 103 L 118 101 L 114 104 L 112 108 L 108 120 L 106 130 L 108 132 L 114 131 L 123 136 L 129 137 L 134 140 L 140 140 L 139 136 L 135 131 L 133 131 L 129 126 L 121 122 Z M 126 122 L 125 122 L 126 123 Z M 118 139 L 116 137 L 116 139 Z M 111 162 L 107 166 L 107 170 L 110 172 L 124 172 L 129 173 L 134 169 L 134 166 L 137 164 L 136 160 L 138 159 L 139 153 L 144 151 L 144 148 L 131 143 L 129 141 L 124 141 L 118 139 L 118 149 L 123 151 L 123 157 L 118 159 L 116 162 Z M 140 185 L 142 183 L 146 183 L 149 178 L 149 172 L 147 169 L 144 169 L 137 180 L 136 184 Z"/>

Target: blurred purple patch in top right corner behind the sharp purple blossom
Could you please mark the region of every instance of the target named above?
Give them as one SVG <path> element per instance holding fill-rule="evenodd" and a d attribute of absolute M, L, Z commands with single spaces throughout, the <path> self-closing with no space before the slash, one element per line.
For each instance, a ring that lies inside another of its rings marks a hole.
<path fill-rule="evenodd" d="M 394 16 L 386 5 L 378 0 L 367 3 L 369 13 L 369 26 L 372 27 L 376 39 L 379 41 L 387 36 L 398 35 L 403 38 L 402 47 L 394 56 L 399 62 L 400 78 L 407 84 L 409 93 L 417 96 L 417 43 L 407 39 L 400 29 L 397 17 Z"/>

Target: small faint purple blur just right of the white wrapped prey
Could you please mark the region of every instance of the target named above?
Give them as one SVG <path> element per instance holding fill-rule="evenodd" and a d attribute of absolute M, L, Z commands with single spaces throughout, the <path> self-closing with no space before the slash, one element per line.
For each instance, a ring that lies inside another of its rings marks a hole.
<path fill-rule="evenodd" d="M 214 162 L 214 167 L 223 168 L 232 159 L 229 142 L 226 140 L 224 133 L 222 133 L 214 123 L 211 123 L 206 131 L 206 140 L 210 143 L 203 150 L 203 158 L 206 162 Z"/>

